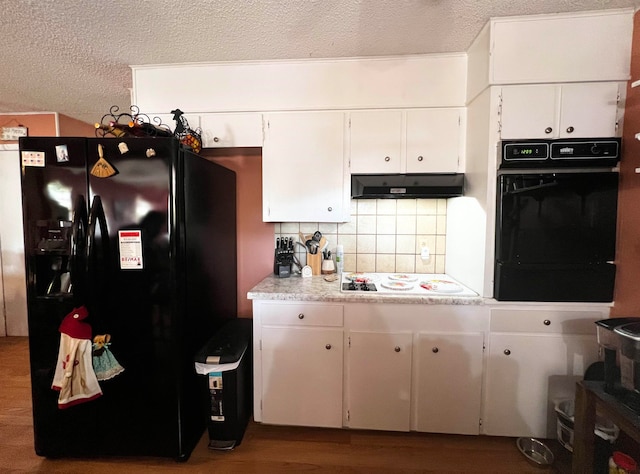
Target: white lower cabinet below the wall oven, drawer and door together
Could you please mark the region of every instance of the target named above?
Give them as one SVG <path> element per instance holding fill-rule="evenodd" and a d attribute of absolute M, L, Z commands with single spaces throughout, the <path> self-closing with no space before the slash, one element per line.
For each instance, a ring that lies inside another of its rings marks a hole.
<path fill-rule="evenodd" d="M 556 437 L 556 400 L 598 360 L 596 326 L 608 309 L 497 309 L 485 371 L 482 431 L 495 436 Z"/>

